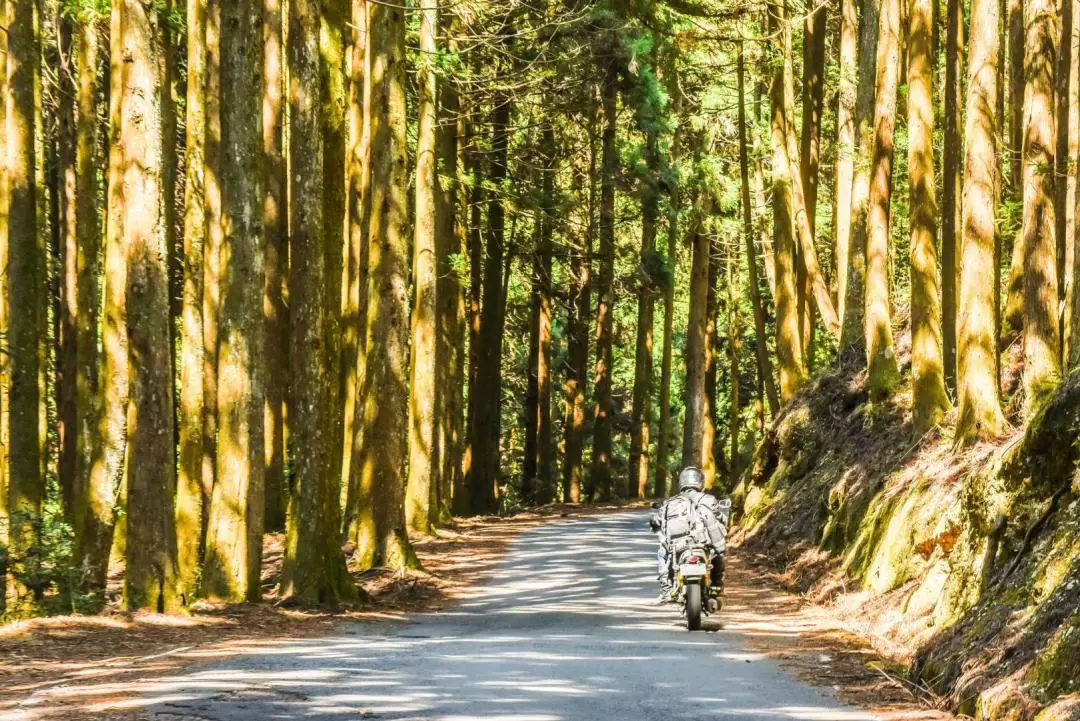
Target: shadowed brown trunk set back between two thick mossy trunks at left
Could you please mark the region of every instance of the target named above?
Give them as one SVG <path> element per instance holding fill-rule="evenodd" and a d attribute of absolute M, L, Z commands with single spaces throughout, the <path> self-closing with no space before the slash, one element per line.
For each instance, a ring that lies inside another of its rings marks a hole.
<path fill-rule="evenodd" d="M 190 1 L 190 0 L 189 0 Z M 282 0 L 262 0 L 262 232 L 265 309 L 264 357 L 266 412 L 266 514 L 267 530 L 285 528 L 288 487 L 285 484 L 285 394 L 288 387 L 288 213 L 282 100 L 284 90 L 284 42 Z"/>

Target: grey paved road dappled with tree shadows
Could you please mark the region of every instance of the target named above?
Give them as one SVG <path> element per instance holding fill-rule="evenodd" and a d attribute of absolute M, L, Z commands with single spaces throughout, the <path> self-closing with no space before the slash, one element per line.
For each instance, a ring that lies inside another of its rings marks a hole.
<path fill-rule="evenodd" d="M 748 652 L 723 613 L 652 604 L 640 512 L 525 532 L 483 593 L 414 624 L 353 624 L 156 682 L 156 721 L 869 721 Z"/>

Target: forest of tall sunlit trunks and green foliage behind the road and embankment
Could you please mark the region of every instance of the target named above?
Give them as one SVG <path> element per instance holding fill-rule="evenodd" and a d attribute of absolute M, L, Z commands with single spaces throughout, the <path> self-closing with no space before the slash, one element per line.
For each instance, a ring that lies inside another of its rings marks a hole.
<path fill-rule="evenodd" d="M 11 617 L 257 600 L 275 530 L 351 601 L 733 489 L 838 367 L 963 448 L 1080 364 L 1071 0 L 2 6 Z"/>

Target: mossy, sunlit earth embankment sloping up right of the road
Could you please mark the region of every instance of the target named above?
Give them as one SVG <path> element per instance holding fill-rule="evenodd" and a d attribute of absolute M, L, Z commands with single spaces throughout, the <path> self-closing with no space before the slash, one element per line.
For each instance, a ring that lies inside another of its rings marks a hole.
<path fill-rule="evenodd" d="M 961 713 L 1080 720 L 1080 376 L 1030 423 L 954 450 L 910 389 L 815 381 L 737 489 L 742 545 Z"/>

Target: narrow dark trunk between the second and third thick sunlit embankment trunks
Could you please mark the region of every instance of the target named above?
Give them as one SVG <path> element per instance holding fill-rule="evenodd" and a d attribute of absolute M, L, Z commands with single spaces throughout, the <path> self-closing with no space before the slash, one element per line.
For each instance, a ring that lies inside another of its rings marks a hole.
<path fill-rule="evenodd" d="M 942 358 L 945 382 L 957 384 L 957 260 L 961 250 L 960 198 L 961 176 L 960 132 L 960 49 L 963 44 L 963 23 L 960 0 L 948 0 L 945 33 L 945 128 L 942 149 Z M 995 300 L 995 305 L 997 301 Z"/>

